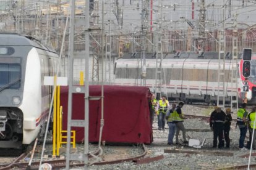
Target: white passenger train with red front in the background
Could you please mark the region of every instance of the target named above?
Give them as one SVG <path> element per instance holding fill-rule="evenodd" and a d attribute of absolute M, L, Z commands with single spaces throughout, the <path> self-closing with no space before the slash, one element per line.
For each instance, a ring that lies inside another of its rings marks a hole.
<path fill-rule="evenodd" d="M 155 54 L 145 54 L 146 56 L 146 86 L 154 92 L 156 59 Z M 242 76 L 242 54 L 239 54 L 238 67 L 238 87 L 231 83 L 232 54 L 228 52 L 225 55 L 225 101 L 230 102 L 231 96 L 235 92 L 239 93 L 239 103 L 245 98 L 244 81 Z M 221 57 L 223 59 L 223 56 Z M 235 61 L 236 62 L 236 61 Z M 114 84 L 142 86 L 141 80 L 142 60 L 140 53 L 124 54 L 124 57 L 116 60 L 114 67 Z M 202 52 L 177 52 L 176 54 L 163 54 L 162 62 L 162 92 L 168 95 L 168 98 L 182 100 L 186 103 L 194 101 L 203 101 L 214 103 L 218 96 L 218 53 Z M 256 56 L 253 54 L 251 61 L 251 76 L 247 79 L 249 91 L 246 94 L 248 102 L 254 102 L 256 97 Z M 221 69 L 223 69 L 223 60 L 221 60 Z M 245 84 L 246 85 L 246 84 Z M 220 86 L 221 87 L 221 86 Z M 223 94 L 220 88 L 220 94 Z M 223 95 L 222 95 L 223 96 Z M 222 100 L 223 97 L 220 97 Z M 234 99 L 234 98 L 233 98 Z"/>

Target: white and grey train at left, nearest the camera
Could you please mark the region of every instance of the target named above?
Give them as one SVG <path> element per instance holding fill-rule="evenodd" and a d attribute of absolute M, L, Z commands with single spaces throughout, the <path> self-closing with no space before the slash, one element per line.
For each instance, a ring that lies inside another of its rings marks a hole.
<path fill-rule="evenodd" d="M 31 37 L 0 39 L 0 148 L 20 148 L 43 129 L 51 101 L 43 78 L 55 73 L 58 55 Z"/>

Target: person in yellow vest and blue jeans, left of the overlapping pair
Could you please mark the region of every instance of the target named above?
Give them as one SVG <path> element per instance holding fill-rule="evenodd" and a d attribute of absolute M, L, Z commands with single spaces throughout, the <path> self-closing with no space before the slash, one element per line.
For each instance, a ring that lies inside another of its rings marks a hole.
<path fill-rule="evenodd" d="M 176 124 L 174 122 L 174 113 L 173 111 L 176 108 L 176 104 L 173 103 L 171 109 L 169 109 L 166 113 L 166 120 L 169 126 L 169 134 L 168 134 L 168 145 L 173 145 L 173 137 L 176 131 Z"/>

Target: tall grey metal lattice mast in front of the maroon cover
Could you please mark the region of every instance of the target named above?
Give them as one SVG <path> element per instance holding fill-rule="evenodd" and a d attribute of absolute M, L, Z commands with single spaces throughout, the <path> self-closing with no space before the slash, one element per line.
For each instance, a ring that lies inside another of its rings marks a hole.
<path fill-rule="evenodd" d="M 70 1 L 71 14 L 70 14 L 70 30 L 69 30 L 69 100 L 68 100 L 68 113 L 67 113 L 67 151 L 66 151 L 66 169 L 69 169 L 70 160 L 83 161 L 85 169 L 88 169 L 88 124 L 89 124 L 89 55 L 90 55 L 90 41 L 89 41 L 89 1 L 85 0 L 85 16 L 75 18 L 75 0 Z M 83 26 L 85 28 L 85 86 L 75 87 L 73 84 L 73 67 L 74 67 L 74 37 L 75 26 Z M 82 93 L 85 95 L 85 119 L 75 120 L 72 119 L 72 94 Z M 70 133 L 71 127 L 84 127 L 84 148 L 83 153 L 70 154 Z"/>

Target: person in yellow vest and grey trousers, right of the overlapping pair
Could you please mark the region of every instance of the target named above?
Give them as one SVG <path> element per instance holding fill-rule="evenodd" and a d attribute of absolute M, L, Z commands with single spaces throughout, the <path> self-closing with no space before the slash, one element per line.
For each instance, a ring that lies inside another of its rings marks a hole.
<path fill-rule="evenodd" d="M 179 102 L 179 105 L 173 111 L 174 113 L 174 122 L 176 123 L 176 144 L 179 144 L 179 131 L 182 131 L 183 143 L 188 144 L 186 140 L 186 129 L 184 127 L 183 121 L 186 119 L 182 114 L 181 108 L 184 106 L 183 102 Z"/>

